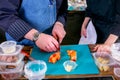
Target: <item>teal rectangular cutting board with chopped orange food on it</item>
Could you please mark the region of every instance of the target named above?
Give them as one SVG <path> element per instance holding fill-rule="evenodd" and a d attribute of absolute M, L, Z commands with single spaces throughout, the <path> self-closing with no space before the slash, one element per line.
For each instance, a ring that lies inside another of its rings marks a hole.
<path fill-rule="evenodd" d="M 60 47 L 61 59 L 55 64 L 49 63 L 49 56 L 53 53 L 41 52 L 39 48 L 34 47 L 31 53 L 31 57 L 36 60 L 44 60 L 47 64 L 46 75 L 72 75 L 72 74 L 99 74 L 99 70 L 94 62 L 94 59 L 90 53 L 88 45 L 65 45 Z M 67 50 L 77 51 L 78 64 L 75 70 L 66 72 L 63 63 L 66 60 L 70 60 L 67 55 Z"/>

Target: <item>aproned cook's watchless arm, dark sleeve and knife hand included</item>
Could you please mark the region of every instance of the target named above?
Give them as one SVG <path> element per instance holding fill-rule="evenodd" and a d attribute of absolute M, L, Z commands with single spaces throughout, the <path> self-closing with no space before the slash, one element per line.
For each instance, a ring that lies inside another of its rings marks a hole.
<path fill-rule="evenodd" d="M 67 19 L 67 0 L 56 0 L 57 1 L 57 20 L 54 24 L 54 28 L 52 30 L 52 35 L 59 41 L 62 42 L 63 38 L 66 35 L 64 30 L 64 26 L 66 24 Z"/>

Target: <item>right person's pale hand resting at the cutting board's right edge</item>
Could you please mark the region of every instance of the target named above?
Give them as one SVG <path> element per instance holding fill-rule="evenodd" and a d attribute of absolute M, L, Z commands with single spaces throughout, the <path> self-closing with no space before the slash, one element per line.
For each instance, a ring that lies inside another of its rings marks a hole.
<path fill-rule="evenodd" d="M 94 47 L 93 51 L 96 51 L 98 53 L 110 53 L 110 45 L 107 44 L 98 44 Z"/>

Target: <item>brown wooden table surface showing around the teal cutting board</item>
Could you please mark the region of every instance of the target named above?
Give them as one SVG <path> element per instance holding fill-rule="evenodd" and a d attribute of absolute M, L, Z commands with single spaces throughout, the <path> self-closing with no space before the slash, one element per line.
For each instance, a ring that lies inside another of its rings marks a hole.
<path fill-rule="evenodd" d="M 89 45 L 90 51 L 93 52 L 93 47 L 95 45 Z M 31 53 L 32 51 L 32 47 L 30 46 L 26 46 L 23 49 L 24 51 Z M 25 58 L 25 61 L 27 62 L 28 59 Z M 100 74 L 91 74 L 91 75 L 58 75 L 58 76 L 54 76 L 54 75 L 46 75 L 45 79 L 60 79 L 60 78 L 85 78 L 85 77 L 104 77 L 104 76 L 112 76 L 114 78 L 114 80 L 119 80 L 114 74 L 113 74 L 113 69 L 111 71 L 108 72 L 100 72 Z M 21 77 L 20 80 L 25 80 L 25 77 Z M 3 80 L 0 77 L 0 80 Z M 91 79 L 90 79 L 91 80 Z M 94 79 L 95 80 L 95 79 Z"/>

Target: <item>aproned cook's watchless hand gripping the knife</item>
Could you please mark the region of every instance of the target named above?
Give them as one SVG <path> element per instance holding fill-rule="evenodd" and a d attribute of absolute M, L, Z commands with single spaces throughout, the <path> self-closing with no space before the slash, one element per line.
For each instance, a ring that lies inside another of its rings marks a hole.
<path fill-rule="evenodd" d="M 54 36 L 55 39 L 59 40 L 59 43 L 62 42 L 63 38 L 66 35 L 66 32 L 64 30 L 64 26 L 60 22 L 56 22 L 53 30 L 52 30 L 52 35 Z"/>

